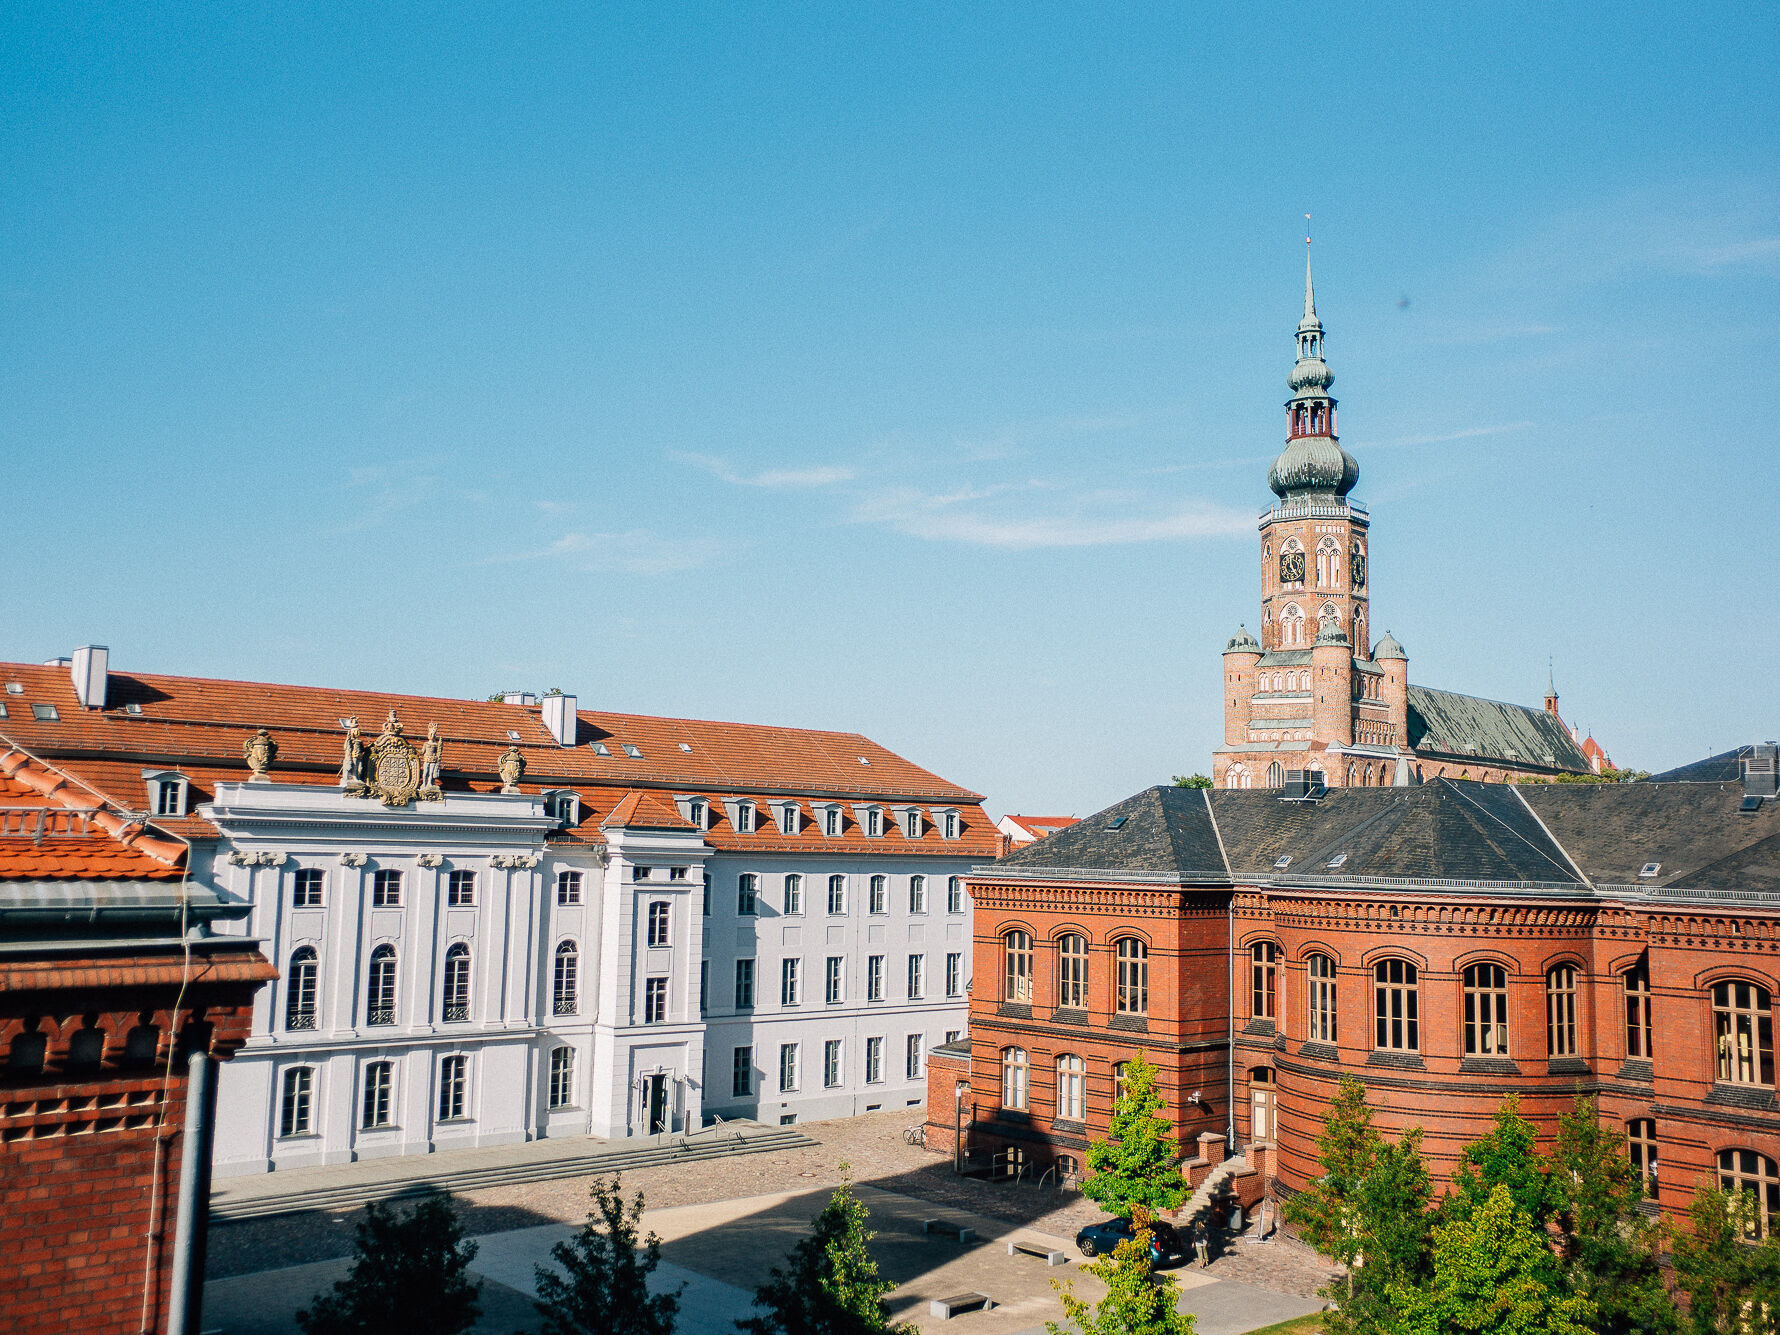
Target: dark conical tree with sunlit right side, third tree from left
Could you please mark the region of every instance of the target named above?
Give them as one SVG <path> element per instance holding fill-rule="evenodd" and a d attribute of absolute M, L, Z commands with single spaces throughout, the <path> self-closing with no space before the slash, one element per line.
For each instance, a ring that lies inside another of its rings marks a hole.
<path fill-rule="evenodd" d="M 892 1324 L 885 1315 L 883 1298 L 895 1283 L 878 1273 L 867 1251 L 876 1234 L 865 1219 L 853 1184 L 842 1180 L 810 1235 L 755 1290 L 755 1307 L 764 1314 L 735 1328 L 744 1335 L 917 1335 L 915 1326 Z"/>

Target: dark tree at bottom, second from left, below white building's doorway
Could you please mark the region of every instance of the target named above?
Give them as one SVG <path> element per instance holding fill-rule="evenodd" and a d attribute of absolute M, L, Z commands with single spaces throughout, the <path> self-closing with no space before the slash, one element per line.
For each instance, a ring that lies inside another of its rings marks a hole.
<path fill-rule="evenodd" d="M 619 1178 L 596 1180 L 580 1232 L 550 1248 L 561 1267 L 534 1266 L 543 1335 L 673 1335 L 680 1290 L 651 1294 L 648 1278 L 660 1264 L 662 1241 L 641 1239 L 643 1193 L 625 1205 Z M 566 1278 L 564 1278 L 566 1276 Z"/>

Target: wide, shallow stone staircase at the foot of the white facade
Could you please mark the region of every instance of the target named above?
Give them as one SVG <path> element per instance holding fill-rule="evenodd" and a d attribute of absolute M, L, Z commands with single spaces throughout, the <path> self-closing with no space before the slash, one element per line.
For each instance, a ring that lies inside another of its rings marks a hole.
<path fill-rule="evenodd" d="M 539 1150 L 550 1141 L 534 1141 Z M 602 1143 L 587 1153 L 538 1153 L 459 1150 L 449 1155 L 379 1159 L 338 1168 L 295 1169 L 253 1178 L 230 1178 L 210 1194 L 210 1221 L 265 1219 L 303 1210 L 344 1210 L 365 1202 L 408 1200 L 445 1191 L 479 1191 L 520 1182 L 548 1182 L 595 1173 L 621 1173 L 657 1164 L 687 1164 L 742 1153 L 799 1150 L 815 1145 L 803 1132 L 755 1123 L 724 1123 L 682 1136 L 662 1136 L 635 1145 Z M 530 1148 L 530 1146 L 525 1146 Z M 477 1162 L 477 1159 L 491 1162 Z M 441 1162 L 449 1161 L 449 1162 Z M 288 1185 L 287 1185 L 288 1184 Z"/>

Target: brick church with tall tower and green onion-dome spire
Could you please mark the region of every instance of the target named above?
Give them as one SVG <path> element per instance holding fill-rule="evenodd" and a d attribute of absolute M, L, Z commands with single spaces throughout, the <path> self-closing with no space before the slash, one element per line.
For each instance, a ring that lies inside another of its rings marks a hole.
<path fill-rule="evenodd" d="M 1223 653 L 1219 789 L 1276 789 L 1289 771 L 1328 787 L 1428 778 L 1508 781 L 1598 769 L 1558 716 L 1410 684 L 1403 644 L 1371 639 L 1371 514 L 1349 498 L 1360 465 L 1335 434 L 1310 265 L 1287 440 L 1267 472 L 1278 502 L 1260 516 L 1260 639 L 1237 628 Z M 1598 751 L 1598 748 L 1597 748 Z"/>

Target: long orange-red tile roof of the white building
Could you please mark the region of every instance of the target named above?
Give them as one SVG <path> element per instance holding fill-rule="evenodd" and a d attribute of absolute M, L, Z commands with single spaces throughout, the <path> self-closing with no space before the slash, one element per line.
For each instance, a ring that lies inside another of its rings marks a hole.
<path fill-rule="evenodd" d="M 522 790 L 573 789 L 580 796 L 578 826 L 559 837 L 566 842 L 603 842 L 600 828 L 612 824 L 614 808 L 630 792 L 655 790 L 669 810 L 671 796 L 703 796 L 712 815 L 705 842 L 726 851 L 997 854 L 997 831 L 979 794 L 858 733 L 578 710 L 577 746 L 566 748 L 548 733 L 536 705 L 114 671 L 107 707 L 89 710 L 75 700 L 66 666 L 0 664 L 0 682 L 21 685 L 20 694 L 0 694 L 9 707 L 0 739 L 16 737 L 37 755 L 55 756 L 126 808 L 142 801 L 142 771 L 162 767 L 187 776 L 187 810 L 194 812 L 215 796 L 217 783 L 247 778 L 242 744 L 256 728 L 267 728 L 278 744 L 274 781 L 336 783 L 340 719 L 358 717 L 368 740 L 393 708 L 417 742 L 429 723 L 438 724 L 443 787 L 454 792 L 498 792 L 497 760 L 513 744 L 507 732 L 520 733 L 527 762 Z M 53 705 L 59 717 L 36 719 L 30 703 Z M 139 712 L 128 712 L 130 705 Z M 639 755 L 628 755 L 627 744 Z M 723 806 L 724 797 L 765 803 L 787 796 L 840 801 L 842 835 L 822 835 L 808 801 L 797 835 L 781 833 L 769 819 L 742 833 Z M 881 837 L 867 838 L 853 812 L 867 801 L 958 808 L 959 838 L 942 838 L 936 822 L 908 838 L 888 819 Z M 192 838 L 215 835 L 198 815 L 158 817 L 155 824 Z"/>

